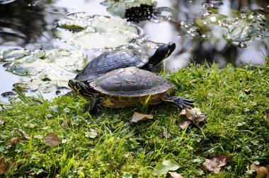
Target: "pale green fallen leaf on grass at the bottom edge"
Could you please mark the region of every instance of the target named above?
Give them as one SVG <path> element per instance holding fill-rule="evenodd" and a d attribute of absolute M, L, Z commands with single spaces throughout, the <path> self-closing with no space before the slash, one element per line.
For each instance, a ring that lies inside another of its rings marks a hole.
<path fill-rule="evenodd" d="M 155 169 L 154 175 L 160 176 L 162 174 L 167 174 L 168 171 L 178 170 L 179 165 L 175 160 L 164 160 L 163 162 L 158 162 Z"/>

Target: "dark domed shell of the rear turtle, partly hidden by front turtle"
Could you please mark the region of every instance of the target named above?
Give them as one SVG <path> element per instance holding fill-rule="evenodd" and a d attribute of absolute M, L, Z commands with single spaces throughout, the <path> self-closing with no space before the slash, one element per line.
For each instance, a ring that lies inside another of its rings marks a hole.
<path fill-rule="evenodd" d="M 76 75 L 75 79 L 78 81 L 90 81 L 114 69 L 128 66 L 141 68 L 148 61 L 149 57 L 146 54 L 131 50 L 105 52 L 88 62 L 85 68 Z"/>

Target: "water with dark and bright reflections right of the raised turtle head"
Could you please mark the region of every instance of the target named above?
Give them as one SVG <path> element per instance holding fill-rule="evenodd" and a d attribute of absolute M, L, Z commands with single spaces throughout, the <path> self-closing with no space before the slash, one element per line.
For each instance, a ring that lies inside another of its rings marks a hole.
<path fill-rule="evenodd" d="M 233 9 L 244 9 L 244 11 L 257 11 L 258 9 L 259 13 L 266 14 L 265 10 L 268 9 L 268 4 L 265 4 L 264 1 L 256 1 L 256 3 L 253 1 L 166 1 L 160 6 L 176 9 L 177 13 L 173 14 L 173 18 L 178 19 L 178 21 L 168 25 L 167 23 L 147 22 L 143 23 L 143 29 L 148 34 L 149 40 L 176 41 L 176 52 L 173 53 L 173 57 L 166 61 L 166 68 L 170 70 L 188 66 L 189 62 L 192 61 L 197 63 L 207 61 L 209 64 L 215 61 L 219 63 L 220 67 L 227 63 L 234 66 L 242 63 L 262 65 L 264 64 L 263 57 L 268 57 L 268 38 L 255 37 L 248 42 L 232 42 L 224 37 L 227 34 L 227 29 L 210 25 L 201 31 L 196 30 L 195 25 L 193 25 L 205 13 L 214 12 L 231 16 L 231 13 L 234 13 Z M 210 8 L 201 8 L 201 6 Z M 266 23 L 268 25 L 268 22 Z M 165 36 L 160 35 L 160 31 Z"/>

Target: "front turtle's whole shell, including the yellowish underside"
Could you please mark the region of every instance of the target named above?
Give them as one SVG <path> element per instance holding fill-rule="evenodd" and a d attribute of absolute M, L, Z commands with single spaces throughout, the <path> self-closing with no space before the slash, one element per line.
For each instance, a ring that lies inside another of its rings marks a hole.
<path fill-rule="evenodd" d="M 156 105 L 173 90 L 165 78 L 137 67 L 115 69 L 88 84 L 103 95 L 102 105 L 118 108 L 143 105 L 146 100 L 147 105 Z"/>

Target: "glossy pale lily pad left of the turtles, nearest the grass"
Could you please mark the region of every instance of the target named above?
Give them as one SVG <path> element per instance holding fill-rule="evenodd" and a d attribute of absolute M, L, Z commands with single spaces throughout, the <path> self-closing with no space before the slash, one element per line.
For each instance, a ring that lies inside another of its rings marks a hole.
<path fill-rule="evenodd" d="M 12 54 L 11 51 L 10 53 Z M 20 76 L 27 76 L 23 78 L 24 85 L 21 87 L 40 90 L 42 93 L 50 93 L 57 88 L 67 88 L 69 79 L 76 76 L 75 71 L 81 70 L 86 61 L 86 56 L 74 49 L 34 52 L 25 50 L 25 54 L 21 56 L 23 58 L 14 57 L 13 61 L 9 61 L 7 70 Z M 11 58 L 8 57 L 9 59 Z"/>

